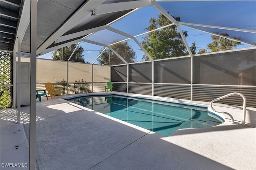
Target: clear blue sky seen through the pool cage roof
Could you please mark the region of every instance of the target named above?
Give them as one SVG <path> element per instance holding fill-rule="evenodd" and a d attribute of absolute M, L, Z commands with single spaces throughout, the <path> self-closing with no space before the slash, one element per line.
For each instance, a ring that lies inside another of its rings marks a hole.
<path fill-rule="evenodd" d="M 172 16 L 180 16 L 181 22 L 256 30 L 256 1 L 159 2 L 159 4 L 166 11 L 170 12 Z M 156 18 L 157 14 L 159 14 L 158 10 L 152 6 L 141 8 L 110 26 L 132 36 L 136 36 L 147 31 L 144 29 L 148 27 L 150 18 Z M 256 35 L 253 33 L 245 34 L 244 32 L 237 31 L 203 27 L 197 28 L 206 29 L 212 32 L 228 32 L 231 37 L 242 37 L 247 41 L 256 40 Z M 207 47 L 207 44 L 212 42 L 211 34 L 185 26 L 181 26 L 181 29 L 188 31 L 188 37 L 186 38 L 188 45 L 191 46 L 195 41 L 197 51 Z M 142 37 L 143 36 L 137 37 L 137 40 L 141 42 Z M 101 43 L 109 43 L 116 39 L 122 40 L 124 37 L 118 36 L 108 30 L 97 32 L 88 38 L 88 40 L 94 40 Z M 144 55 L 144 53 L 140 51 L 140 47 L 132 40 L 129 42 L 134 51 L 136 51 L 137 61 L 142 61 L 142 55 Z M 100 51 L 104 48 L 86 42 L 81 42 L 80 45 L 84 47 L 83 54 L 85 60 L 90 63 L 98 57 Z M 251 47 L 251 45 L 242 44 L 238 48 L 244 47 Z M 52 52 L 41 55 L 39 58 L 51 59 L 51 53 Z"/>

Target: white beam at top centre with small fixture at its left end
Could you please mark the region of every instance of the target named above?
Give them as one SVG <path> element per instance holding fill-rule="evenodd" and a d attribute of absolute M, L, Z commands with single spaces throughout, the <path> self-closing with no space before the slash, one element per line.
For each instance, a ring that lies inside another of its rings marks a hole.
<path fill-rule="evenodd" d="M 98 6 L 92 11 L 92 16 L 131 10 L 135 8 L 145 7 L 145 6 L 151 6 L 151 1 L 152 0 L 138 0 L 138 1 L 128 1 L 128 2 L 117 2 L 117 3 L 111 3 L 111 4 L 101 4 L 100 6 Z"/>

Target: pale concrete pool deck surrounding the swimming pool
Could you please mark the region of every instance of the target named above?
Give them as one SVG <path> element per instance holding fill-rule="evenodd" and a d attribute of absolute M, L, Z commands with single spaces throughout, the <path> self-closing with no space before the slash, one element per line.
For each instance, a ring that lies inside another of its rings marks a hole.
<path fill-rule="evenodd" d="M 246 127 L 226 121 L 163 137 L 60 97 L 42 98 L 36 107 L 38 170 L 256 169 L 256 108 L 247 107 Z M 242 121 L 241 107 L 214 104 L 214 108 L 231 113 L 235 122 Z M 1 170 L 28 169 L 5 168 L 2 163 L 28 163 L 29 107 L 21 107 L 20 125 L 15 124 L 14 109 L 0 111 Z"/>

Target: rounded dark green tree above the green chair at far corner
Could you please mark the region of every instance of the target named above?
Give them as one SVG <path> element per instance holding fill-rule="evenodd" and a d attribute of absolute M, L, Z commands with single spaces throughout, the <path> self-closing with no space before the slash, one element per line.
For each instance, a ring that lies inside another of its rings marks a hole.
<path fill-rule="evenodd" d="M 118 42 L 119 40 L 116 40 L 112 43 Z M 132 46 L 128 44 L 128 42 L 120 42 L 116 43 L 114 45 L 111 45 L 111 47 L 116 51 L 125 61 L 128 63 L 134 63 L 136 62 L 136 52 L 133 51 Z M 103 49 L 100 51 L 102 53 Z M 109 55 L 108 55 L 109 54 Z M 110 56 L 110 63 L 111 65 L 117 65 L 123 63 L 123 61 L 120 60 L 120 58 L 113 53 L 113 51 L 106 49 L 102 55 L 100 55 L 98 61 L 102 65 L 110 65 L 109 63 L 109 57 Z"/>

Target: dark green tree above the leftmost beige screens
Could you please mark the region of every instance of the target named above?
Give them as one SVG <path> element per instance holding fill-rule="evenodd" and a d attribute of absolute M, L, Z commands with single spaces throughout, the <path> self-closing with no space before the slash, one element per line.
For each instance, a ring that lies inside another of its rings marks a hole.
<path fill-rule="evenodd" d="M 77 44 L 72 44 L 72 45 L 68 45 L 67 47 L 64 47 L 64 56 L 62 56 L 63 54 L 62 48 L 54 50 L 54 52 L 51 55 L 52 59 L 68 61 L 70 55 L 76 48 L 76 45 Z M 70 61 L 85 63 L 84 55 L 82 54 L 83 52 L 84 52 L 84 48 L 82 46 L 79 46 L 76 49 L 75 53 L 72 55 Z"/>

